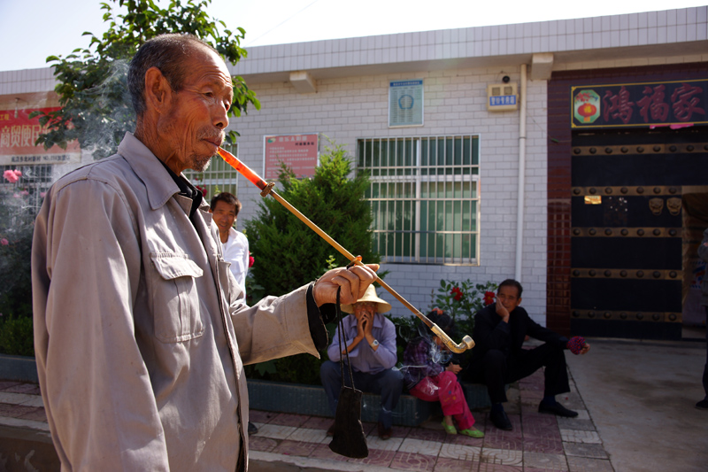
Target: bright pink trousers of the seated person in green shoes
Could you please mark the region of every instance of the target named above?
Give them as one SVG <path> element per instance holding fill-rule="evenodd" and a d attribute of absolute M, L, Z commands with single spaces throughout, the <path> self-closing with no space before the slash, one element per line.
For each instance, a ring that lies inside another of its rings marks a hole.
<path fill-rule="evenodd" d="M 443 414 L 452 416 L 458 422 L 458 429 L 469 429 L 474 424 L 474 417 L 467 406 L 458 376 L 449 370 L 434 377 L 426 377 L 411 389 L 411 395 L 425 401 L 439 401 Z"/>

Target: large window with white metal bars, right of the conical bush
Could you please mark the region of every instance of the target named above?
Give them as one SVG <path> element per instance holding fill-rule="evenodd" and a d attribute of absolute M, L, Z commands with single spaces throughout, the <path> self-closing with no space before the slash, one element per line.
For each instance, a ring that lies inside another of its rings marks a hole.
<path fill-rule="evenodd" d="M 477 135 L 358 140 L 382 262 L 479 263 L 479 150 Z"/>

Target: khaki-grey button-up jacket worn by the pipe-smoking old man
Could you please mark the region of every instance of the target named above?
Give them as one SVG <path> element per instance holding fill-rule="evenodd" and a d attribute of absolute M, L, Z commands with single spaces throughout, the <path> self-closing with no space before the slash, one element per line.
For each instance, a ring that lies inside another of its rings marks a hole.
<path fill-rule="evenodd" d="M 302 287 L 249 308 L 218 229 L 135 136 L 35 223 L 42 399 L 62 470 L 246 470 L 243 363 L 318 356 Z"/>

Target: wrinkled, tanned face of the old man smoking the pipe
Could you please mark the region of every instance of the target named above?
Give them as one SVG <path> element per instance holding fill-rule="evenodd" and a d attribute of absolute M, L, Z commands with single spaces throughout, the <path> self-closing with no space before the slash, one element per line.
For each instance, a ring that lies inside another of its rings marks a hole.
<path fill-rule="evenodd" d="M 183 89 L 173 91 L 158 135 L 169 150 L 168 165 L 203 172 L 224 141 L 234 90 L 226 64 L 212 50 L 194 46 L 185 69 Z"/>

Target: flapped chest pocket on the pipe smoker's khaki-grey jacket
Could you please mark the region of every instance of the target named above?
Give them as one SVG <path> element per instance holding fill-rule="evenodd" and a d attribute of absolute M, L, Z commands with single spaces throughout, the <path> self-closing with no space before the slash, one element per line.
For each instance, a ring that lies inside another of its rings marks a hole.
<path fill-rule="evenodd" d="M 204 334 L 196 278 L 201 267 L 187 254 L 150 253 L 152 267 L 152 313 L 155 337 L 163 343 L 178 343 Z"/>

